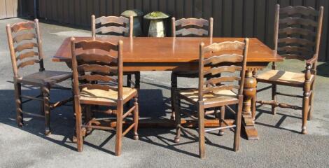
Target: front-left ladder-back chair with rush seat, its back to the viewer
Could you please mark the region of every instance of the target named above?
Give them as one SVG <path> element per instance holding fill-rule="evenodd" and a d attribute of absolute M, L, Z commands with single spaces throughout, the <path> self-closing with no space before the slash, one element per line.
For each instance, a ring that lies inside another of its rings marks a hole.
<path fill-rule="evenodd" d="M 123 87 L 122 50 L 123 41 L 119 41 L 118 44 L 102 41 L 76 42 L 74 38 L 71 38 L 76 137 L 79 152 L 83 151 L 83 137 L 90 129 L 116 131 L 116 155 L 121 153 L 122 137 L 132 128 L 134 128 L 134 139 L 139 138 L 137 134 L 139 120 L 137 89 Z M 113 52 L 117 55 L 110 55 Z M 134 104 L 124 113 L 123 105 L 131 99 L 134 99 Z M 86 107 L 84 123 L 82 123 L 82 105 Z M 102 118 L 90 118 L 90 106 L 92 105 L 112 108 L 107 111 L 93 112 L 115 114 L 116 129 L 109 123 L 102 125 Z M 132 113 L 133 123 L 123 132 L 123 119 Z"/>

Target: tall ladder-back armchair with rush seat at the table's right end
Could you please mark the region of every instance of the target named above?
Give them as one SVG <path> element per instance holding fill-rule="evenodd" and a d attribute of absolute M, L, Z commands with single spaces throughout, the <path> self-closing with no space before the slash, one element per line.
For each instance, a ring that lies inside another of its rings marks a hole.
<path fill-rule="evenodd" d="M 273 62 L 272 70 L 261 73 L 258 83 L 270 83 L 272 86 L 262 88 L 258 92 L 272 88 L 272 101 L 257 101 L 260 104 L 272 105 L 272 113 L 276 107 L 302 110 L 302 134 L 307 134 L 306 123 L 311 119 L 314 106 L 314 81 L 316 62 L 320 45 L 323 7 L 314 10 L 311 7 L 288 6 L 280 8 L 276 5 L 274 24 L 274 52 L 286 59 L 306 60 L 304 73 L 280 71 Z M 276 91 L 276 85 L 302 87 L 302 95 L 287 94 Z M 276 102 L 276 95 L 302 98 L 302 107 Z M 255 108 L 255 104 L 253 104 Z M 253 118 L 255 113 L 253 113 Z"/>

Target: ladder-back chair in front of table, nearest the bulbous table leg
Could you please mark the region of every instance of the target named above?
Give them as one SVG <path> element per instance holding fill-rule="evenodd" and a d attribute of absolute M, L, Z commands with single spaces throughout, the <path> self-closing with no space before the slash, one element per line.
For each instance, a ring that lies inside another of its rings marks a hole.
<path fill-rule="evenodd" d="M 233 50 L 233 53 L 228 50 Z M 216 56 L 215 53 L 221 55 Z M 237 53 L 243 53 L 239 55 Z M 235 127 L 234 151 L 239 150 L 240 130 L 241 130 L 241 111 L 243 102 L 243 87 L 244 87 L 244 73 L 246 70 L 246 57 L 248 53 L 248 38 L 244 43 L 239 41 L 226 41 L 223 43 L 213 43 L 204 47 L 204 43 L 200 44 L 200 59 L 199 59 L 199 88 L 177 90 L 175 101 L 176 113 L 176 137 L 175 142 L 179 142 L 181 137 L 181 130 L 188 134 L 192 132 L 186 130 L 181 125 L 181 113 L 198 120 L 199 132 L 199 150 L 200 158 L 204 158 L 204 132 L 213 132 L 220 130 L 223 133 L 224 129 L 232 129 Z M 210 55 L 210 56 L 209 56 Z M 238 76 L 235 76 L 239 72 Z M 218 73 L 230 73 L 230 76 L 216 77 Z M 204 81 L 205 77 L 210 76 L 209 79 Z M 192 113 L 183 111 L 180 108 L 179 99 L 184 99 L 187 102 L 197 106 L 197 116 Z M 233 111 L 228 105 L 238 104 L 237 112 Z M 236 120 L 234 125 L 228 125 L 225 122 L 225 107 L 231 112 L 235 113 Z M 220 112 L 220 126 L 204 129 L 204 116 L 207 115 L 205 109 L 215 108 L 216 113 Z M 220 109 L 220 111 L 218 111 Z M 192 134 L 195 136 L 194 134 Z"/>

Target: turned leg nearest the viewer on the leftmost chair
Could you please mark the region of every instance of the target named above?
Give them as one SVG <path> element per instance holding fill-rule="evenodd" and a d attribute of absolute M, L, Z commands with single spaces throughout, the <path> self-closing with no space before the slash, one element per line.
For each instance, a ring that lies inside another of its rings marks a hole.
<path fill-rule="evenodd" d="M 43 111 L 45 113 L 45 135 L 50 135 L 50 86 L 45 85 L 41 90 L 43 92 Z"/>

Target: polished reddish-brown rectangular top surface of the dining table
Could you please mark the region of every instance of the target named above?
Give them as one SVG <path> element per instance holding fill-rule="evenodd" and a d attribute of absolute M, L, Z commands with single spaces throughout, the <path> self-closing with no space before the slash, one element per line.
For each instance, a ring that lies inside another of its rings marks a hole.
<path fill-rule="evenodd" d="M 91 40 L 91 37 L 76 37 L 76 41 Z M 123 40 L 123 62 L 197 62 L 199 59 L 199 45 L 204 42 L 221 43 L 223 41 L 244 41 L 244 38 L 221 38 L 221 37 L 99 37 L 97 40 L 117 43 Z M 267 45 L 257 38 L 249 38 L 249 50 L 247 62 L 280 62 L 283 58 L 274 55 Z M 54 62 L 70 62 L 71 47 L 70 38 L 66 38 L 57 50 Z"/>

